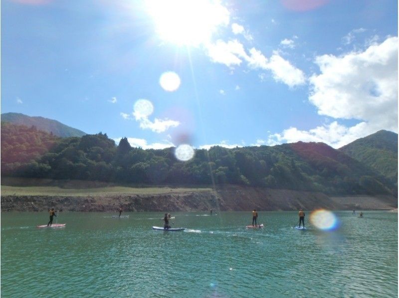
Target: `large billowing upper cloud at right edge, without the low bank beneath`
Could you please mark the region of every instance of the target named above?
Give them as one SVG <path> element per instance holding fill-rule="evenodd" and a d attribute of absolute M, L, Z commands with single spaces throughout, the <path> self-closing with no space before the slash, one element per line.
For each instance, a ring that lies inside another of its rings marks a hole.
<path fill-rule="evenodd" d="M 320 74 L 310 78 L 309 100 L 320 115 L 398 126 L 398 37 L 364 52 L 316 57 Z"/>

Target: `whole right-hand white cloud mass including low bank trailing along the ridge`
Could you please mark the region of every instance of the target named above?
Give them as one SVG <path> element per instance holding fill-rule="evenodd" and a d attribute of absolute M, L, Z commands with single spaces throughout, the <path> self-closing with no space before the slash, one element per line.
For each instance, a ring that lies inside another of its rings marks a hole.
<path fill-rule="evenodd" d="M 295 127 L 270 135 L 267 144 L 323 142 L 340 148 L 379 130 L 398 131 L 398 37 L 340 57 L 316 57 L 320 74 L 310 78 L 309 100 L 320 115 L 357 119 L 352 127 L 334 121 L 309 131 Z"/>

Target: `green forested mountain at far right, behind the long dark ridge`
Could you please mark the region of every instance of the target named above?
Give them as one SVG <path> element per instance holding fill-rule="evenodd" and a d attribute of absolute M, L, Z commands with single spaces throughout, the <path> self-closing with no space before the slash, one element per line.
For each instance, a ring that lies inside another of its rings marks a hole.
<path fill-rule="evenodd" d="M 398 134 L 382 130 L 339 150 L 398 183 Z"/>

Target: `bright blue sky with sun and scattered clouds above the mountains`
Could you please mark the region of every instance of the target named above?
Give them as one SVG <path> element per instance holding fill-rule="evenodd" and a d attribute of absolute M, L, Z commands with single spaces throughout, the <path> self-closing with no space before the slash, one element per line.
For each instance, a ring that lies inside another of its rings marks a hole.
<path fill-rule="evenodd" d="M 145 149 L 398 132 L 398 3 L 2 0 L 7 112 Z"/>

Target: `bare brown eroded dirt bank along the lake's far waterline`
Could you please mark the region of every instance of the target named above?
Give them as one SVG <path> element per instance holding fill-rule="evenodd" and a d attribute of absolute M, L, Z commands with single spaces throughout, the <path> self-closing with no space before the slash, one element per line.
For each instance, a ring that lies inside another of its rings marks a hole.
<path fill-rule="evenodd" d="M 1 196 L 1 211 L 221 211 L 257 210 L 390 210 L 398 208 L 391 196 L 329 197 L 323 193 L 227 186 L 215 191 L 109 196 Z"/>

